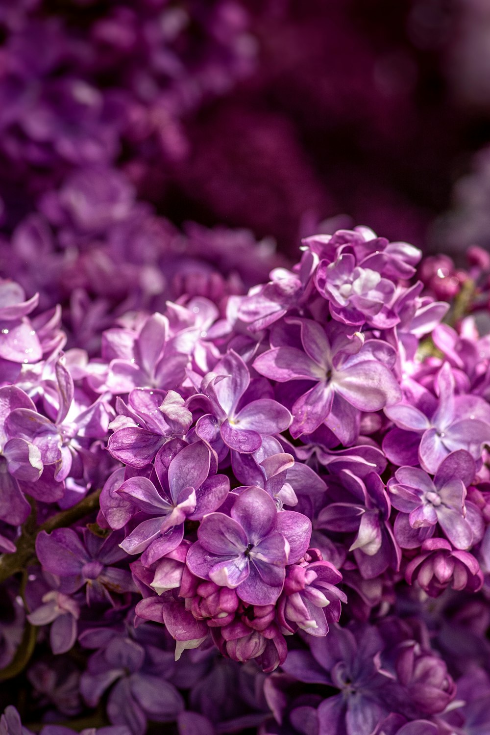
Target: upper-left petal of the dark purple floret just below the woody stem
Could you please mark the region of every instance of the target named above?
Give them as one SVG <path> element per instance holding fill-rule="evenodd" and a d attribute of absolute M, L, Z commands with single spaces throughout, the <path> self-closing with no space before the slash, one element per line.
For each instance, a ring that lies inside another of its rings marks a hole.
<path fill-rule="evenodd" d="M 43 569 L 59 577 L 75 576 L 90 561 L 84 545 L 71 528 L 40 531 L 36 538 L 37 559 Z"/>

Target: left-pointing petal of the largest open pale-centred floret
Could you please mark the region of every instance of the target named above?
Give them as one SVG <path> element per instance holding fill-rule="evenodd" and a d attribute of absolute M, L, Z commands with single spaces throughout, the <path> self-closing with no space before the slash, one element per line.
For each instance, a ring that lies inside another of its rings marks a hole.
<path fill-rule="evenodd" d="M 325 380 L 326 371 L 307 354 L 294 347 L 277 347 L 259 355 L 254 368 L 270 380 Z"/>

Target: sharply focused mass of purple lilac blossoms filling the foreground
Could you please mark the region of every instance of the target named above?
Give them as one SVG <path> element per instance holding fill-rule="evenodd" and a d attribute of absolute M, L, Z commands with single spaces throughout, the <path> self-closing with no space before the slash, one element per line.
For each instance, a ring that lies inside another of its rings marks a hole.
<path fill-rule="evenodd" d="M 478 254 L 319 234 L 246 294 L 121 304 L 90 350 L 0 282 L 1 735 L 486 732 Z"/>

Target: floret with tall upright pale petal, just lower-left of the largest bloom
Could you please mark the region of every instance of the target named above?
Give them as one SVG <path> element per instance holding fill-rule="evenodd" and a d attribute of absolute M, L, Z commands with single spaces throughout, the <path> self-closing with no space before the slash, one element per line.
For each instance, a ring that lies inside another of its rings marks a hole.
<path fill-rule="evenodd" d="M 202 380 L 202 394 L 188 402 L 202 404 L 208 412 L 197 420 L 196 433 L 220 454 L 222 446 L 238 452 L 255 452 L 263 437 L 288 429 L 288 409 L 271 398 L 246 401 L 249 370 L 238 354 L 229 351 Z M 222 451 L 221 451 L 222 453 Z"/>

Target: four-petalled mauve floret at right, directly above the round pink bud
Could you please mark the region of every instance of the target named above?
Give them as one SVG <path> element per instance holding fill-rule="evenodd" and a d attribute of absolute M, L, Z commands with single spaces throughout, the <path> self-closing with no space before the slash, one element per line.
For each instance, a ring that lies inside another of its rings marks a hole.
<path fill-rule="evenodd" d="M 457 549 L 478 542 L 483 536 L 483 519 L 473 503 L 465 503 L 474 476 L 475 462 L 464 449 L 446 456 L 434 480 L 418 467 L 396 470 L 388 490 L 392 506 L 401 511 L 395 521 L 395 537 L 401 545 L 418 546 L 434 534 L 437 524 Z"/>

